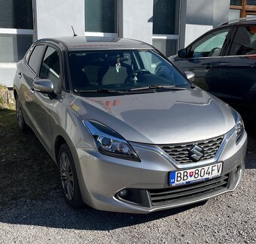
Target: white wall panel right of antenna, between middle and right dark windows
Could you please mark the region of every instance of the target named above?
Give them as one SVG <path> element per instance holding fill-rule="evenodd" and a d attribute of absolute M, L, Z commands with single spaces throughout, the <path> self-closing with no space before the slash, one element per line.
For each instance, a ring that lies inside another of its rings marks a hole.
<path fill-rule="evenodd" d="M 153 0 L 119 0 L 121 38 L 132 38 L 152 44 Z"/>

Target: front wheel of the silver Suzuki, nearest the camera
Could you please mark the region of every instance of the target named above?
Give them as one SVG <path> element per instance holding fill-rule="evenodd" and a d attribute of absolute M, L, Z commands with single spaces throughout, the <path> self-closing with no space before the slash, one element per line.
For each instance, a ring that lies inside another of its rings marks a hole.
<path fill-rule="evenodd" d="M 66 143 L 62 144 L 59 148 L 58 164 L 59 179 L 66 203 L 75 209 L 83 207 L 84 202 L 81 197 L 75 163 L 69 150 L 69 146 Z"/>

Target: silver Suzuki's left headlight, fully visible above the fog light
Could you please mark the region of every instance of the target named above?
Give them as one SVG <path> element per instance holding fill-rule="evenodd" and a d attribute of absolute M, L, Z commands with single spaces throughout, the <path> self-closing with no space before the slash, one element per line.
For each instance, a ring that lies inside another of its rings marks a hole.
<path fill-rule="evenodd" d="M 100 153 L 115 158 L 140 161 L 130 144 L 116 131 L 96 121 L 83 121 L 93 135 Z"/>

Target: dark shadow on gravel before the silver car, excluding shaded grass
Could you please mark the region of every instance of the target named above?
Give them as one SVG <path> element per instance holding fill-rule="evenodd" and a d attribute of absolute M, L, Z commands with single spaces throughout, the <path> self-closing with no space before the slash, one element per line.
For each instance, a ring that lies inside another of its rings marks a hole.
<path fill-rule="evenodd" d="M 0 210 L 0 221 L 8 224 L 65 228 L 75 230 L 114 230 L 120 227 L 142 224 L 200 206 L 194 204 L 177 209 L 153 212 L 148 215 L 103 212 L 89 207 L 72 209 L 59 194 L 51 200 L 20 200 L 15 205 Z"/>

